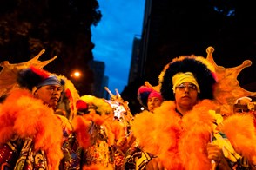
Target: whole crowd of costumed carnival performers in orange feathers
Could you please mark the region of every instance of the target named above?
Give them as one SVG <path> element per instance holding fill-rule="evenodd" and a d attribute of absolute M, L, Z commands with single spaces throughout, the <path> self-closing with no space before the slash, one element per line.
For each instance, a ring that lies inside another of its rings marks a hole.
<path fill-rule="evenodd" d="M 255 92 L 238 83 L 239 95 L 216 100 L 225 77 L 207 54 L 167 63 L 157 86 L 138 88 L 145 109 L 133 115 L 118 93 L 80 96 L 64 75 L 13 65 L 14 85 L 1 92 L 1 169 L 256 169 Z"/>

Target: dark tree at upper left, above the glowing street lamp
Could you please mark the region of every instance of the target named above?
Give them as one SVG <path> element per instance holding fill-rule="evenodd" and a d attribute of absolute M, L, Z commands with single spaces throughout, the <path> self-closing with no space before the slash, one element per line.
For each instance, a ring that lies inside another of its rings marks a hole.
<path fill-rule="evenodd" d="M 97 0 L 2 0 L 0 2 L 0 57 L 26 62 L 45 49 L 40 60 L 58 56 L 44 69 L 70 78 L 83 72 L 75 84 L 81 95 L 90 93 L 93 59 L 91 25 L 101 19 Z"/>

